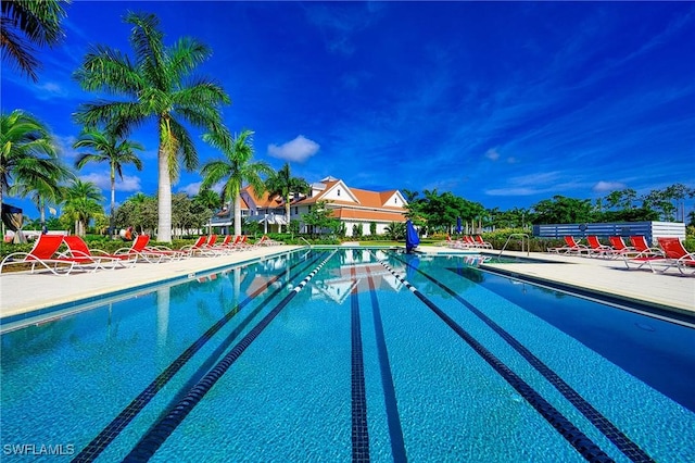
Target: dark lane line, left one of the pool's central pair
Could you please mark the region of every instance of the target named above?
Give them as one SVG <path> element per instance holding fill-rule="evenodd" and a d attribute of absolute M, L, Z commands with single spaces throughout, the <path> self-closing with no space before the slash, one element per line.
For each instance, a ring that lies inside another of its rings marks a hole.
<path fill-rule="evenodd" d="M 356 281 L 355 266 L 350 270 Z M 355 285 L 350 292 L 352 338 L 352 461 L 369 462 L 369 429 L 367 428 L 367 398 L 365 393 L 365 364 L 362 352 L 359 323 L 359 295 Z"/>

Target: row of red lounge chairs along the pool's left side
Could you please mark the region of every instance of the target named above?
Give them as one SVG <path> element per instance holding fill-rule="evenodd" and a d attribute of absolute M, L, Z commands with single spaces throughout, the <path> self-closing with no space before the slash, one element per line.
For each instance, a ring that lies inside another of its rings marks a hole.
<path fill-rule="evenodd" d="M 201 236 L 193 245 L 181 249 L 164 246 L 150 246 L 149 235 L 138 235 L 130 248 L 122 248 L 112 253 L 100 249 L 90 249 L 83 238 L 76 235 L 40 235 L 29 252 L 13 252 L 0 263 L 2 268 L 10 265 L 30 265 L 31 273 L 37 266 L 58 274 L 70 274 L 73 271 L 96 272 L 98 270 L 115 270 L 134 266 L 137 262 L 161 263 L 178 261 L 191 256 L 215 256 L 262 246 L 281 245 L 267 236 L 255 243 L 249 243 L 245 235 L 226 236 L 217 242 L 217 235 Z M 65 245 L 65 251 L 60 251 Z"/>

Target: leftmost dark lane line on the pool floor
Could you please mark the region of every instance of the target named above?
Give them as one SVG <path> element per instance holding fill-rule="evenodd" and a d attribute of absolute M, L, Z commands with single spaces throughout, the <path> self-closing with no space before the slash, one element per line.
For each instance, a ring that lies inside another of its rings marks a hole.
<path fill-rule="evenodd" d="M 318 256 L 313 258 L 307 268 Z M 305 264 L 306 262 L 298 262 L 291 268 Z M 160 375 L 150 383 L 142 392 L 140 392 L 118 415 L 104 427 L 101 433 L 94 437 L 74 459 L 73 462 L 91 462 L 121 434 L 123 429 L 137 416 L 144 406 L 156 396 L 156 393 L 178 373 L 179 370 L 198 352 L 217 331 L 219 331 L 237 313 L 255 299 L 260 293 L 265 291 L 270 285 L 280 279 L 286 274 L 282 271 L 269 279 L 264 286 L 253 291 L 243 301 L 237 304 L 232 310 L 227 312 L 214 325 L 212 325 L 203 335 L 188 347 L 174 362 L 172 362 Z M 273 295 L 275 296 L 275 293 Z"/>

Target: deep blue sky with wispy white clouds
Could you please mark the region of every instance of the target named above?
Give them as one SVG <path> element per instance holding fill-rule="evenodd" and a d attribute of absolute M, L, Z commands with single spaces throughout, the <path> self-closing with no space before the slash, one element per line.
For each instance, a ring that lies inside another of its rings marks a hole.
<path fill-rule="evenodd" d="M 156 14 L 167 45 L 208 45 L 198 73 L 231 97 L 230 130 L 254 130 L 256 159 L 289 161 L 309 183 L 437 189 L 502 210 L 695 187 L 693 2 L 74 0 L 66 10 L 64 42 L 39 54 L 40 80 L 7 66 L 0 88 L 2 112 L 41 118 L 70 164 L 72 113 L 96 98 L 72 74 L 90 45 L 132 57 L 131 10 Z M 144 171 L 126 166 L 118 202 L 156 191 L 154 125 L 130 138 L 147 148 Z M 201 162 L 218 155 L 198 149 Z M 110 196 L 105 165 L 80 176 Z M 174 191 L 193 195 L 200 182 L 184 173 Z M 35 216 L 28 201 L 8 202 Z"/>

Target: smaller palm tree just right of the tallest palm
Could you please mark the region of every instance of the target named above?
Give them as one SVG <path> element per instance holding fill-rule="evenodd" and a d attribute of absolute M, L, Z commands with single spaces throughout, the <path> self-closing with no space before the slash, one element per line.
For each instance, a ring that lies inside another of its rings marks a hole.
<path fill-rule="evenodd" d="M 263 161 L 253 161 L 251 146 L 253 132 L 243 130 L 237 138 L 220 134 L 205 134 L 203 139 L 223 152 L 226 159 L 213 160 L 201 168 L 203 176 L 201 188 L 210 188 L 224 182 L 220 198 L 223 203 L 235 201 L 235 235 L 241 235 L 241 186 L 251 185 L 257 193 L 265 191 L 261 175 L 271 175 L 273 170 Z"/>

